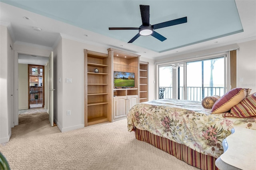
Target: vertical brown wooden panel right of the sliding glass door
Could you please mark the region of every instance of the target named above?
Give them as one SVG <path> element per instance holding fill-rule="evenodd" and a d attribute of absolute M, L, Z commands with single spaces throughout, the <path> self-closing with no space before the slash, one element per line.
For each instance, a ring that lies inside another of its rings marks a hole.
<path fill-rule="evenodd" d="M 236 50 L 230 51 L 230 85 L 236 88 Z"/>

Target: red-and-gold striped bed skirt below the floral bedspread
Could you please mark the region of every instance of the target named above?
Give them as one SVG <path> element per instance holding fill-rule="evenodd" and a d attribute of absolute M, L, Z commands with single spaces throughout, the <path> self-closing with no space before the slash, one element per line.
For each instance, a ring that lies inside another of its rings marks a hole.
<path fill-rule="evenodd" d="M 196 152 L 184 144 L 178 144 L 167 138 L 156 136 L 146 130 L 134 127 L 134 131 L 136 139 L 152 144 L 156 148 L 175 156 L 179 160 L 183 160 L 189 165 L 202 170 L 218 170 L 215 166 L 216 158 L 212 156 Z"/>

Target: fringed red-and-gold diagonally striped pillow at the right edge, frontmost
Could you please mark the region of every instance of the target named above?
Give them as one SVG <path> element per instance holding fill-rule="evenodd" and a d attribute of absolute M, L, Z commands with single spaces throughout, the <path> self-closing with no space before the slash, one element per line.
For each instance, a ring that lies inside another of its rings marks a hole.
<path fill-rule="evenodd" d="M 223 117 L 253 117 L 256 116 L 256 93 L 253 93 L 231 108 L 230 113 Z"/>

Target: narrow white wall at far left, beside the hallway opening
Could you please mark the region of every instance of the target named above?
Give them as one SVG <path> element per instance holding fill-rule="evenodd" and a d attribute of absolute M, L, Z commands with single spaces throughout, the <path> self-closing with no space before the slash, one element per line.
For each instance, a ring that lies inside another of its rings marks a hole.
<path fill-rule="evenodd" d="M 11 137 L 11 114 L 8 109 L 10 97 L 10 76 L 8 65 L 10 64 L 10 45 L 13 42 L 6 26 L 0 26 L 0 143 L 8 142 Z M 9 65 L 10 66 L 10 65 Z"/>

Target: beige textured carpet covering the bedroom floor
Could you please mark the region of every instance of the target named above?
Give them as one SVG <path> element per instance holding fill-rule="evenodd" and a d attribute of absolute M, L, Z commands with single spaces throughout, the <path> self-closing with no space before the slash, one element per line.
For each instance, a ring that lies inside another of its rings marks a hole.
<path fill-rule="evenodd" d="M 197 170 L 136 140 L 126 121 L 63 133 L 48 121 L 18 125 L 0 151 L 12 170 Z"/>

